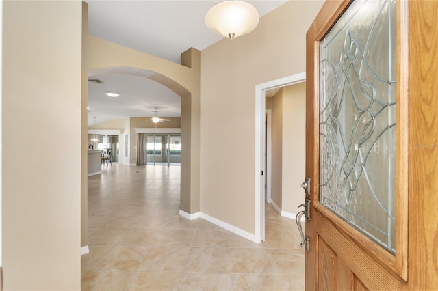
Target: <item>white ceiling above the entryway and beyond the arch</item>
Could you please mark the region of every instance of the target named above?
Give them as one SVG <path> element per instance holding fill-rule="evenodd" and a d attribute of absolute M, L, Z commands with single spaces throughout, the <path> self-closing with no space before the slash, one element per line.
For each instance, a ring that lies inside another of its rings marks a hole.
<path fill-rule="evenodd" d="M 138 51 L 180 63 L 181 53 L 193 47 L 200 51 L 222 40 L 209 31 L 205 14 L 218 1 L 108 1 L 89 0 L 88 33 Z M 286 1 L 246 1 L 260 16 Z M 231 41 L 231 40 L 230 40 Z M 180 98 L 155 81 L 128 74 L 89 76 L 105 84 L 88 82 L 88 126 L 126 117 L 179 117 Z M 115 91 L 117 98 L 105 91 Z"/>

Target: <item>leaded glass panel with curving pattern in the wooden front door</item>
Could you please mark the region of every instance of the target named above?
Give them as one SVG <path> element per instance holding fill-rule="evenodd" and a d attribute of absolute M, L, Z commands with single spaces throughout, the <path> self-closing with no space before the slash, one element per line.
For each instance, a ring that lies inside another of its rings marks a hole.
<path fill-rule="evenodd" d="M 354 1 L 320 43 L 320 202 L 395 253 L 396 1 Z"/>

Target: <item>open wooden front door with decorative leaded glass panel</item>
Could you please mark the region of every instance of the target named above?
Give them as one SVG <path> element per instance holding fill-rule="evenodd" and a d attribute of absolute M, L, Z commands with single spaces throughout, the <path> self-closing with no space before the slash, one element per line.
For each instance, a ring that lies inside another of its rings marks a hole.
<path fill-rule="evenodd" d="M 306 290 L 438 290 L 438 1 L 368 3 L 326 1 L 307 31 Z M 322 52 L 336 34 L 342 49 Z"/>

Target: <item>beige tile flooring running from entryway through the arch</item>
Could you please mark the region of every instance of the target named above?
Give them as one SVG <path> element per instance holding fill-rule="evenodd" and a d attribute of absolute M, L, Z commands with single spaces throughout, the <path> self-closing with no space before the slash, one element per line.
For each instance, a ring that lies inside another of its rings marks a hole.
<path fill-rule="evenodd" d="M 270 204 L 258 245 L 179 216 L 179 166 L 102 169 L 88 178 L 81 290 L 304 290 L 295 221 Z"/>

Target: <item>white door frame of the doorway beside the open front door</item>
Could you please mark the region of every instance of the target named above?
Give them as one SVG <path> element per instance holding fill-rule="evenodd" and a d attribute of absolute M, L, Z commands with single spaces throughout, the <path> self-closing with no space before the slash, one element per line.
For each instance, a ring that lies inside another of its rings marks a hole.
<path fill-rule="evenodd" d="M 255 243 L 261 243 L 265 240 L 265 194 L 263 191 L 264 178 L 261 174 L 266 163 L 264 155 L 266 136 L 265 91 L 305 81 L 306 73 L 300 72 L 298 74 L 255 85 Z"/>

